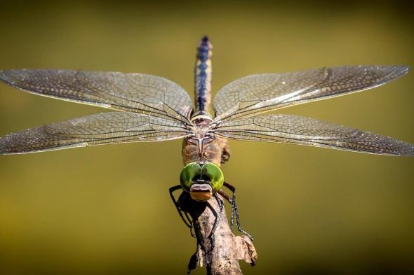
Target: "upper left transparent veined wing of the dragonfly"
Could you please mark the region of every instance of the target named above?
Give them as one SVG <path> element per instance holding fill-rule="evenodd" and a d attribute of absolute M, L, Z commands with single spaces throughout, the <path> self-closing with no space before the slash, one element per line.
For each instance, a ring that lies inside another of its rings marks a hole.
<path fill-rule="evenodd" d="M 192 106 L 179 85 L 140 73 L 21 69 L 0 71 L 0 80 L 46 97 L 183 121 Z"/>

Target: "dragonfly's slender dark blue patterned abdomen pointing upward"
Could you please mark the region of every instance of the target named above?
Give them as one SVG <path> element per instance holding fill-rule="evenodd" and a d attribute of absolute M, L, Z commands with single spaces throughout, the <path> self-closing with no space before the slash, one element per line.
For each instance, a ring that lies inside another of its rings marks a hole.
<path fill-rule="evenodd" d="M 212 50 L 213 45 L 208 41 L 208 37 L 201 38 L 199 48 L 197 48 L 196 68 L 194 70 L 196 111 L 199 112 L 208 112 L 210 106 Z"/>

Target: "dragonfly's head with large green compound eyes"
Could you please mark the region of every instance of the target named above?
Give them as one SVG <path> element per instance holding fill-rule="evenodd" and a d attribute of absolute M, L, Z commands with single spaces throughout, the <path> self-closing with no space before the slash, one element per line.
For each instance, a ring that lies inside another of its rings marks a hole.
<path fill-rule="evenodd" d="M 213 162 L 190 162 L 180 174 L 182 190 L 199 202 L 208 201 L 222 188 L 224 181 L 220 167 Z"/>

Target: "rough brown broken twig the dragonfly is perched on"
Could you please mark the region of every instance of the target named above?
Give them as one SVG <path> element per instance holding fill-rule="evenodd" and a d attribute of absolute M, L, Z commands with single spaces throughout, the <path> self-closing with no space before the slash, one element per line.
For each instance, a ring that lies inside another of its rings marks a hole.
<path fill-rule="evenodd" d="M 197 251 L 190 260 L 189 271 L 199 265 L 206 266 L 208 275 L 242 274 L 239 260 L 244 260 L 253 266 L 258 255 L 251 239 L 245 235 L 234 236 L 224 206 L 220 210 L 220 204 L 223 203 L 218 200 L 220 197 L 212 197 L 208 202 L 195 202 L 192 199 L 181 202 L 186 204 L 185 208 L 192 216 L 197 237 Z M 216 220 L 218 224 L 211 236 Z M 213 249 L 211 249 L 212 244 Z"/>

